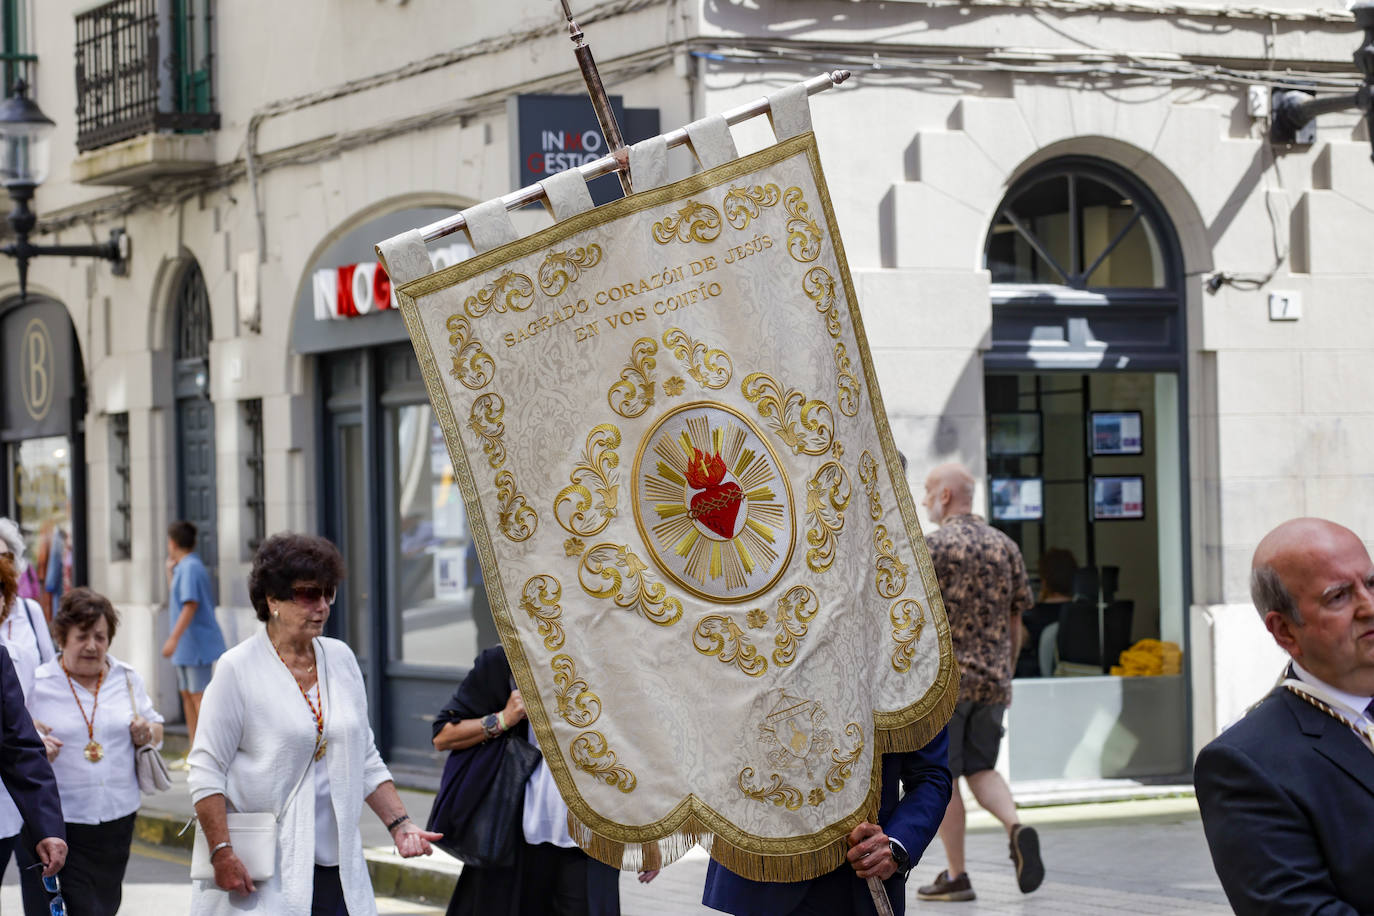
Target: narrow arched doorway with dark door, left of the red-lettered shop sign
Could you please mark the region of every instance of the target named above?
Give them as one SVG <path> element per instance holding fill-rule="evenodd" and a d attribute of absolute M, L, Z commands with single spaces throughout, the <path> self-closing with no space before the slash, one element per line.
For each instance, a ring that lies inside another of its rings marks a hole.
<path fill-rule="evenodd" d="M 218 589 L 216 537 L 214 404 L 210 401 L 210 294 L 191 261 L 172 301 L 176 397 L 177 518 L 195 525 L 196 553 Z"/>

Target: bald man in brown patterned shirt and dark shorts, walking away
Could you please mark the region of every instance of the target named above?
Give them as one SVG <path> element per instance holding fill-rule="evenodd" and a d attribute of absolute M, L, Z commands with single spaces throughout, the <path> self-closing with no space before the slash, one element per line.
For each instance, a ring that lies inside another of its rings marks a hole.
<path fill-rule="evenodd" d="M 963 673 L 959 705 L 949 720 L 949 773 L 956 780 L 955 791 L 940 824 L 949 868 L 916 891 L 921 900 L 974 898 L 963 868 L 960 776 L 978 803 L 1007 828 L 1021 891 L 1029 894 L 1044 880 L 1035 828 L 1017 818 L 1011 790 L 993 769 L 1002 717 L 1011 705 L 1011 674 L 1021 651 L 1021 612 L 1035 602 L 1020 548 L 973 514 L 973 475 L 960 464 L 941 464 L 926 478 L 925 507 L 930 520 L 940 526 L 926 536 L 926 544 Z"/>

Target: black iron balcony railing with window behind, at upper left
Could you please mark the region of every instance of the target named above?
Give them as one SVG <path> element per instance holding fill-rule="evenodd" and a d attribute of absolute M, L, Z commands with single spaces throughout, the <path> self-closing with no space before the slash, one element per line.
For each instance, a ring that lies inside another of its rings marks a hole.
<path fill-rule="evenodd" d="M 212 8 L 111 0 L 76 18 L 77 150 L 155 130 L 218 129 L 209 15 L 196 22 L 195 5 Z"/>

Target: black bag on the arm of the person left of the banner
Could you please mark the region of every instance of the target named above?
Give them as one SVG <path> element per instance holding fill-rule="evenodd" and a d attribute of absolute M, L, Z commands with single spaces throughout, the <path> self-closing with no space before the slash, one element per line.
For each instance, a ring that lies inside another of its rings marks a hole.
<path fill-rule="evenodd" d="M 513 733 L 453 751 L 430 810 L 427 829 L 444 834 L 436 846 L 474 868 L 514 865 L 525 783 L 540 757 L 537 747 Z"/>

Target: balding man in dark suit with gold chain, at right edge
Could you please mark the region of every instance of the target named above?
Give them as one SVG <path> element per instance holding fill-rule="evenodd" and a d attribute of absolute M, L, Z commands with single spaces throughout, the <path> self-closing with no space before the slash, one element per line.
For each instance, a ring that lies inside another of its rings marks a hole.
<path fill-rule="evenodd" d="M 1371 913 L 1374 562 L 1349 529 L 1293 519 L 1256 548 L 1250 593 L 1292 663 L 1198 755 L 1212 861 L 1237 913 Z"/>

